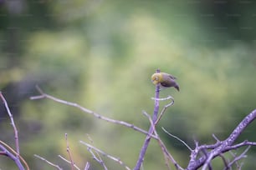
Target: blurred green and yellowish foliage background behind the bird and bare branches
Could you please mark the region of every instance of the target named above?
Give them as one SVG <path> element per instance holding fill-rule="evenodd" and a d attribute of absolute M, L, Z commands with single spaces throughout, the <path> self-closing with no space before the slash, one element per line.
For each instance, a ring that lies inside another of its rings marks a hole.
<path fill-rule="evenodd" d="M 148 129 L 142 115 L 152 113 L 155 87 L 151 74 L 177 77 L 181 91 L 158 125 L 161 138 L 186 168 L 189 152 L 161 131 L 215 143 L 228 137 L 256 107 L 256 2 L 178 0 L 1 0 L 0 89 L 14 115 L 23 158 L 31 169 L 54 169 L 38 154 L 64 169 L 69 164 L 64 133 L 74 162 L 102 169 L 79 143 L 90 143 L 134 168 L 145 135 L 92 117 L 50 100 L 31 101 L 39 85 L 47 92 L 77 102 L 105 117 Z M 166 102 L 161 102 L 164 106 Z M 0 139 L 14 148 L 13 128 L 1 105 Z M 238 139 L 256 141 L 256 123 Z M 242 152 L 243 150 L 238 150 Z M 256 167 L 256 148 L 243 159 L 243 169 Z M 104 157 L 103 157 L 104 158 Z M 104 158 L 109 169 L 124 169 Z M 17 169 L 0 158 L 1 169 Z M 215 160 L 221 169 L 222 160 Z M 156 141 L 146 152 L 144 169 L 165 169 Z"/>

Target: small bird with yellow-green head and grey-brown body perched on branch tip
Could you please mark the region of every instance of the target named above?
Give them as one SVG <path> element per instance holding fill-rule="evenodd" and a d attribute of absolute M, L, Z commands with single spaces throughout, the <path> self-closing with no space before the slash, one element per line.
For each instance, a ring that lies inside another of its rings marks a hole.
<path fill-rule="evenodd" d="M 161 88 L 166 88 L 166 87 L 175 87 L 177 91 L 180 91 L 180 87 L 175 81 L 177 79 L 176 77 L 172 76 L 171 74 L 168 74 L 166 72 L 158 72 L 154 73 L 151 76 L 151 81 L 156 85 L 160 83 Z"/>

